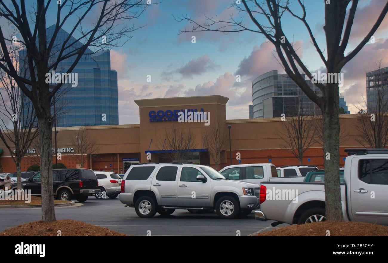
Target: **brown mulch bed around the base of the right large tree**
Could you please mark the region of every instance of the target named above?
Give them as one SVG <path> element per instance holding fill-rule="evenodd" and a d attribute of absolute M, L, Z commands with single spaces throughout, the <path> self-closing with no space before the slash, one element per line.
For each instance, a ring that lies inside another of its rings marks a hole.
<path fill-rule="evenodd" d="M 277 228 L 255 236 L 388 236 L 388 226 L 361 222 L 316 222 Z"/>

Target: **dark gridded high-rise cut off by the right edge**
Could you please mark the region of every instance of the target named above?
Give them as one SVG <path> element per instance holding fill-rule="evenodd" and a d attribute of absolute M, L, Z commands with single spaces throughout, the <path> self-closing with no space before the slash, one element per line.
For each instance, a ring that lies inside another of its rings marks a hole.
<path fill-rule="evenodd" d="M 367 110 L 376 110 L 379 96 L 383 99 L 383 104 L 388 104 L 388 67 L 366 73 Z M 380 110 L 385 109 L 384 106 Z"/>

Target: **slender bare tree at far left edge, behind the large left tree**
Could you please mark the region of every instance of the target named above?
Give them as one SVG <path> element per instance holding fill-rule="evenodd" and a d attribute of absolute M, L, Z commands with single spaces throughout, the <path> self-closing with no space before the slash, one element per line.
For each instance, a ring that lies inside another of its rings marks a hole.
<path fill-rule="evenodd" d="M 9 57 L 19 68 L 19 45 L 11 46 Z M 2 52 L 0 51 L 0 54 Z M 4 64 L 4 62 L 0 62 Z M 0 68 L 0 139 L 9 150 L 16 165 L 17 189 L 22 189 L 21 161 L 32 141 L 38 136 L 37 119 L 33 106 L 27 102 L 11 74 Z M 11 148 L 15 150 L 12 151 Z"/>

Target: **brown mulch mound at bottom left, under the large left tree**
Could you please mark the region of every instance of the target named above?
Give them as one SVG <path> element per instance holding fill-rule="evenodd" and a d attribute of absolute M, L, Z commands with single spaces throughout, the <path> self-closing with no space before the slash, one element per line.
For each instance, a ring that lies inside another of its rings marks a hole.
<path fill-rule="evenodd" d="M 125 236 L 122 233 L 82 221 L 64 219 L 52 222 L 34 221 L 14 226 L 0 233 L 1 236 Z"/>

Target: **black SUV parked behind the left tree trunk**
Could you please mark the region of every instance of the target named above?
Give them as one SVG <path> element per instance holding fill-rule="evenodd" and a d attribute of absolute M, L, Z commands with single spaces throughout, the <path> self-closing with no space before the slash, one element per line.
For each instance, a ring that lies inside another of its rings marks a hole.
<path fill-rule="evenodd" d="M 90 169 L 53 169 L 52 181 L 54 196 L 61 200 L 85 202 L 89 194 L 99 192 L 98 181 L 93 170 Z M 31 190 L 31 195 L 41 195 L 40 172 L 22 182 L 24 190 Z M 14 183 L 11 189 L 17 187 Z"/>

